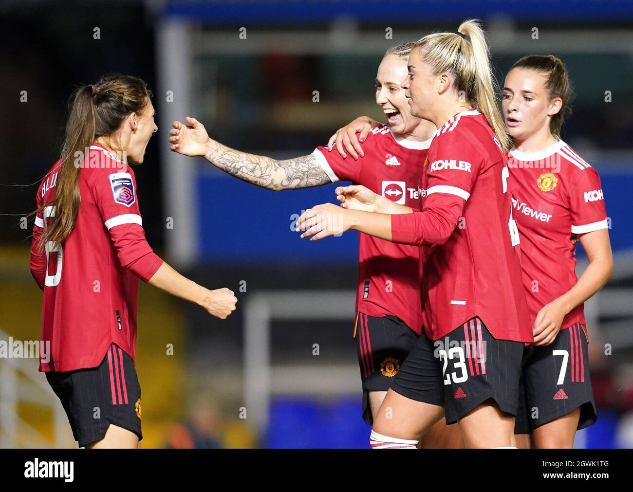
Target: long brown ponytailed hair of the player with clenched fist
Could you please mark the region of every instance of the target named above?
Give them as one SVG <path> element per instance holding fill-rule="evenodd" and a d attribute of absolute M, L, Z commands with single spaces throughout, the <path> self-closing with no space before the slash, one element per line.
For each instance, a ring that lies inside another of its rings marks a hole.
<path fill-rule="evenodd" d="M 56 246 L 65 240 L 77 222 L 81 197 L 79 175 L 86 149 L 97 137 L 116 139 L 116 131 L 130 113 L 141 113 L 151 97 L 147 84 L 138 77 L 110 74 L 94 85 L 84 85 L 70 97 L 70 113 L 61 149 L 60 171 L 53 202 L 54 219 L 46 224 L 39 247 Z M 110 142 L 111 147 L 116 142 Z M 123 150 L 123 149 L 116 149 Z M 42 206 L 42 208 L 44 207 Z"/>

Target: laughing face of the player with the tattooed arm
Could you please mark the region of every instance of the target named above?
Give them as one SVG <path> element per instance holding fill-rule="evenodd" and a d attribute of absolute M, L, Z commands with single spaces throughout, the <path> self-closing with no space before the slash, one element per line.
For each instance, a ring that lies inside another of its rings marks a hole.
<path fill-rule="evenodd" d="M 410 133 L 420 119 L 411 115 L 411 109 L 401 83 L 406 78 L 406 58 L 388 54 L 380 62 L 376 75 L 376 104 L 382 108 L 394 133 Z"/>

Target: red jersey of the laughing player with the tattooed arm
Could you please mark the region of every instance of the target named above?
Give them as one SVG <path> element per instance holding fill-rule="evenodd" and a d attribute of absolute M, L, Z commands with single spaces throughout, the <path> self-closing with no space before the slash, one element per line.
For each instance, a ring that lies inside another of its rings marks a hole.
<path fill-rule="evenodd" d="M 317 147 L 313 152 L 332 182 L 352 181 L 408 207 L 418 207 L 418 183 L 430 140 L 398 137 L 387 125 L 373 128 L 363 144 L 365 157 L 343 159 L 338 152 Z M 368 316 L 399 317 L 418 335 L 420 248 L 360 233 L 356 311 Z"/>

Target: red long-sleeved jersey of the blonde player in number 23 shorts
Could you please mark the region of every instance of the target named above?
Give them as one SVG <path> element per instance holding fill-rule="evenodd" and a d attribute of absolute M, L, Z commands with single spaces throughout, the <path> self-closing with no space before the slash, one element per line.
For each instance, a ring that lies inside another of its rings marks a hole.
<path fill-rule="evenodd" d="M 394 215 L 395 242 L 425 247 L 422 296 L 437 340 L 474 316 L 494 338 L 530 342 L 508 168 L 483 114 L 451 118 L 429 148 L 421 211 Z"/>

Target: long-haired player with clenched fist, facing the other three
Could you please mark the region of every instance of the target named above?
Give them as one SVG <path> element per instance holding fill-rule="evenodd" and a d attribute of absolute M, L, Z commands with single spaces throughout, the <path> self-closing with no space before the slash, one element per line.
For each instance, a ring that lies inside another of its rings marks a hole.
<path fill-rule="evenodd" d="M 37 191 L 30 269 L 44 291 L 40 371 L 86 448 L 140 447 L 134 368 L 138 278 L 225 319 L 237 298 L 163 262 L 142 228 L 134 171 L 158 128 L 140 78 L 107 75 L 75 91 L 60 160 Z"/>

